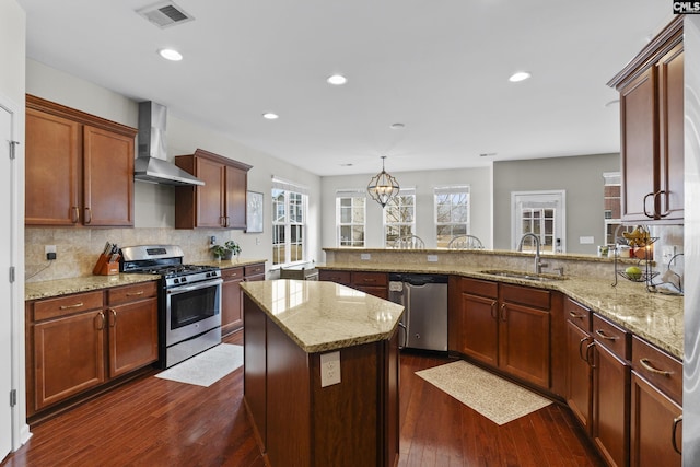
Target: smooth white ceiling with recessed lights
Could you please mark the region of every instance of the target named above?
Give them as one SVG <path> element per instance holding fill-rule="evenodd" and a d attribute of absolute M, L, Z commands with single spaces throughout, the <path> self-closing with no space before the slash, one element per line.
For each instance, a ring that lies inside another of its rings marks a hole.
<path fill-rule="evenodd" d="M 152 0 L 19 3 L 27 57 L 318 175 L 617 152 L 606 83 L 672 19 L 664 0 L 177 0 L 195 21 L 161 30 L 135 12 Z"/>

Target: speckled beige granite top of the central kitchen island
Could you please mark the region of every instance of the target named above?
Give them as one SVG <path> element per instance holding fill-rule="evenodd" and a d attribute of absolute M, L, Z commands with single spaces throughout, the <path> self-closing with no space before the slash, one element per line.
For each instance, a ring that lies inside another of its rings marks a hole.
<path fill-rule="evenodd" d="M 388 339 L 404 313 L 334 282 L 278 279 L 241 288 L 306 353 Z"/>

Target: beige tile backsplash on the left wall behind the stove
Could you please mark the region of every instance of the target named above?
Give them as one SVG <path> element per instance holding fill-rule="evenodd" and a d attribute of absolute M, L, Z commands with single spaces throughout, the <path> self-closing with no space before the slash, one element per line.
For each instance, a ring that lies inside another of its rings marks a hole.
<path fill-rule="evenodd" d="M 186 262 L 206 261 L 212 258 L 209 250 L 211 235 L 217 236 L 217 243 L 233 238 L 232 232 L 221 230 L 26 227 L 25 282 L 92 276 L 107 242 L 119 246 L 179 245 Z M 46 245 L 56 245 L 56 259 L 52 261 L 46 259 Z"/>

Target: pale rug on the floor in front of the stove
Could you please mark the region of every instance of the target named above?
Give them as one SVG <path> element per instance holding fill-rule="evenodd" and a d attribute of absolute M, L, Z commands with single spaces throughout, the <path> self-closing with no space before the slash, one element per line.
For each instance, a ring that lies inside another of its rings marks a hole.
<path fill-rule="evenodd" d="M 243 346 L 220 343 L 155 376 L 209 387 L 241 365 L 243 365 Z"/>

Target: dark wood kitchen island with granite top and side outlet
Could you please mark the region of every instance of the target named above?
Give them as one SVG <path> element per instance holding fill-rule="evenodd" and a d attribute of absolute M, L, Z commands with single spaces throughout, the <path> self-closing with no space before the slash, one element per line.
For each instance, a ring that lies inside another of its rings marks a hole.
<path fill-rule="evenodd" d="M 331 282 L 244 282 L 244 400 L 271 466 L 394 466 L 404 307 Z"/>

